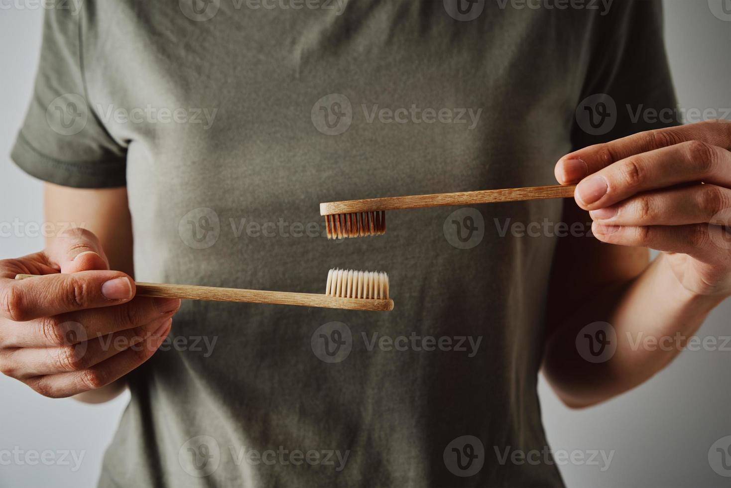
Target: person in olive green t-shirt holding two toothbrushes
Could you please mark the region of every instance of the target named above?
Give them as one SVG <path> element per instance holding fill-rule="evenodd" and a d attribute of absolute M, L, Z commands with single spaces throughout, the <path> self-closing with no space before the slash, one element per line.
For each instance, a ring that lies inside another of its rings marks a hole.
<path fill-rule="evenodd" d="M 175 3 L 48 10 L 12 151 L 79 225 L 0 263 L 0 369 L 129 388 L 99 486 L 561 486 L 495 454 L 547 446 L 539 369 L 602 402 L 680 349 L 630 338 L 689 337 L 730 294 L 731 123 L 667 117 L 659 1 Z M 554 175 L 574 199 L 391 212 L 379 237 L 328 241 L 317 213 Z M 389 272 L 395 309 L 133 281 L 317 292 L 335 266 Z"/>

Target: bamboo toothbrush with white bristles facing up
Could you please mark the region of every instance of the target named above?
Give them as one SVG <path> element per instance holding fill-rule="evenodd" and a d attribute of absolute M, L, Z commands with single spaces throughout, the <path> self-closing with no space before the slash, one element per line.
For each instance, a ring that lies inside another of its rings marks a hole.
<path fill-rule="evenodd" d="M 16 275 L 16 280 L 37 275 Z M 135 283 L 137 297 L 215 300 L 217 302 L 270 303 L 303 307 L 342 308 L 346 310 L 393 310 L 388 297 L 388 275 L 385 272 L 340 270 L 327 272 L 325 294 L 292 293 L 289 291 L 244 290 L 214 286 Z"/>

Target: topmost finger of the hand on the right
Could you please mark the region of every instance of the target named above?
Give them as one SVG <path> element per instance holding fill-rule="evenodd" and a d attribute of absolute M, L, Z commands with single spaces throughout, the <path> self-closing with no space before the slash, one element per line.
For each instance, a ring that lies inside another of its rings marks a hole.
<path fill-rule="evenodd" d="M 645 131 L 605 144 L 591 145 L 561 158 L 555 168 L 556 180 L 563 185 L 577 183 L 599 169 L 629 156 L 690 141 L 705 142 L 731 150 L 731 121 L 706 121 Z"/>

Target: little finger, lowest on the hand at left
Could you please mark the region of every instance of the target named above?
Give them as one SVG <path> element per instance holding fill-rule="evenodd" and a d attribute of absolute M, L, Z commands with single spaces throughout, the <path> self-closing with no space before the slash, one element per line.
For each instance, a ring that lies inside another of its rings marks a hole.
<path fill-rule="evenodd" d="M 140 345 L 126 348 L 109 359 L 83 370 L 56 375 L 37 376 L 25 381 L 45 397 L 64 398 L 102 388 L 118 380 L 150 359 L 170 332 L 170 321 L 143 340 Z"/>

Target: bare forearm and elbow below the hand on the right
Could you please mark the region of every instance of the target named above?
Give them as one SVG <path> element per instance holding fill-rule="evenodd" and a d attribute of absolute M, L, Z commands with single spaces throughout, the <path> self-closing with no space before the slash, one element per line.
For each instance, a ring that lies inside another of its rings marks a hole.
<path fill-rule="evenodd" d="M 659 256 L 631 282 L 597 294 L 549 338 L 544 371 L 564 403 L 593 405 L 647 381 L 682 351 L 708 312 L 724 300 L 686 290 L 665 258 Z M 584 338 L 577 343 L 577 334 L 596 321 L 613 327 L 616 351 L 591 362 L 580 354 L 588 343 Z"/>

